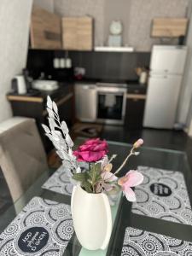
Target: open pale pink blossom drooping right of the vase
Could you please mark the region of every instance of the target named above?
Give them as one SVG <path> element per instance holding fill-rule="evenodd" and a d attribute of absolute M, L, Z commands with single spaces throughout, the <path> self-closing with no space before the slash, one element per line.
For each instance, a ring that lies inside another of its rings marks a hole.
<path fill-rule="evenodd" d="M 120 177 L 118 181 L 128 201 L 136 201 L 135 192 L 131 188 L 141 183 L 143 183 L 143 174 L 134 170 L 127 172 L 126 175 Z"/>

